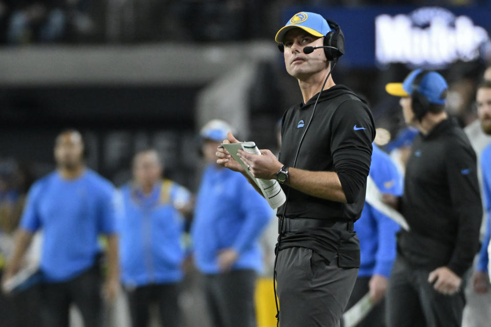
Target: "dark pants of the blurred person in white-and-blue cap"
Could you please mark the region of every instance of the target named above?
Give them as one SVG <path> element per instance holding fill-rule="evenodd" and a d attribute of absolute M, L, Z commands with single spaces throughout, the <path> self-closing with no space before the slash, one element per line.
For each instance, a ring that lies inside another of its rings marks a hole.
<path fill-rule="evenodd" d="M 213 327 L 255 327 L 254 270 L 205 275 L 205 296 Z"/>

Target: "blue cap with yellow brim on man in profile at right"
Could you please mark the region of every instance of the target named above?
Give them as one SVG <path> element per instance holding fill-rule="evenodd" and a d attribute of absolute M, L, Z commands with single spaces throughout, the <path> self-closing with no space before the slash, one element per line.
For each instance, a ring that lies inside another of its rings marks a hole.
<path fill-rule="evenodd" d="M 409 73 L 402 83 L 389 83 L 385 86 L 388 94 L 396 97 L 410 97 L 413 94 L 413 82 L 422 69 Z M 449 88 L 447 81 L 437 72 L 428 72 L 417 85 L 417 91 L 428 99 L 429 103 L 445 104 L 444 91 Z"/>

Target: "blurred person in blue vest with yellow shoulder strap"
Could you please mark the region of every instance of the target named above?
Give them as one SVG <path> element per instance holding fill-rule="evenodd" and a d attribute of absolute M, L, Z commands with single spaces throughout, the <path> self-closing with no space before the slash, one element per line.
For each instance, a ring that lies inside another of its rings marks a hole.
<path fill-rule="evenodd" d="M 148 325 L 152 302 L 159 306 L 162 326 L 181 321 L 177 297 L 185 256 L 183 214 L 189 211 L 191 194 L 162 179 L 163 169 L 157 151 L 140 151 L 133 158 L 133 180 L 121 189 L 121 279 L 133 327 Z"/>

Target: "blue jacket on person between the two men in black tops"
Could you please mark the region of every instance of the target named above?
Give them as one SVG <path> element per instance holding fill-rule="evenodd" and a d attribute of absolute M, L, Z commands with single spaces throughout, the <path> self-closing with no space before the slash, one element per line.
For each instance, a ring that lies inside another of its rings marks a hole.
<path fill-rule="evenodd" d="M 382 193 L 399 196 L 403 178 L 388 154 L 373 145 L 370 176 Z M 390 276 L 396 254 L 395 233 L 399 225 L 365 202 L 362 215 L 354 223 L 360 239 L 361 265 L 359 276 L 374 274 Z"/>

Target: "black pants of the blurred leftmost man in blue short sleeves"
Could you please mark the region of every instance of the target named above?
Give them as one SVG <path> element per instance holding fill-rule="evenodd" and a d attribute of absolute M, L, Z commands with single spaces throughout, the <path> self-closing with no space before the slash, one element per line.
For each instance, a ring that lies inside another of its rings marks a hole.
<path fill-rule="evenodd" d="M 68 282 L 41 286 L 41 316 L 44 327 L 70 325 L 70 305 L 80 310 L 85 327 L 102 326 L 101 275 L 99 266 L 90 268 Z"/>

